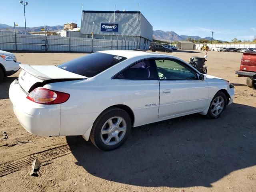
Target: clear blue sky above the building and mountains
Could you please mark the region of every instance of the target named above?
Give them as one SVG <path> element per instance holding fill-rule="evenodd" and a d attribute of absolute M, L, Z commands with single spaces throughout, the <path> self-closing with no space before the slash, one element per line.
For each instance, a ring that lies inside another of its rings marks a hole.
<path fill-rule="evenodd" d="M 248 40 L 256 35 L 256 0 L 27 0 L 28 27 L 62 25 L 80 26 L 84 10 L 139 10 L 153 30 L 174 31 L 179 35 L 211 36 L 219 40 Z M 207 15 L 207 16 L 206 16 Z M 1 4 L 0 23 L 24 26 L 24 9 L 19 0 Z"/>

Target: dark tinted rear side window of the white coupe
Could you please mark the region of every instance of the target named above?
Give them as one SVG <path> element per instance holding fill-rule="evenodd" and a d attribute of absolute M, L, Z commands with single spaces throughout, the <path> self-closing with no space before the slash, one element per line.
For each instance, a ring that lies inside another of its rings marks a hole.
<path fill-rule="evenodd" d="M 123 80 L 158 80 L 154 60 L 140 61 L 117 74 L 114 79 Z"/>

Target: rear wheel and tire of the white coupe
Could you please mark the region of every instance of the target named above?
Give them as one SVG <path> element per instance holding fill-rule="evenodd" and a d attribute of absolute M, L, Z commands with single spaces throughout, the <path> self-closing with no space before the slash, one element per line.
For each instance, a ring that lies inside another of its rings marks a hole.
<path fill-rule="evenodd" d="M 95 120 L 90 140 L 98 149 L 115 150 L 124 144 L 130 135 L 131 127 L 129 114 L 120 108 L 111 107 L 102 112 Z"/>

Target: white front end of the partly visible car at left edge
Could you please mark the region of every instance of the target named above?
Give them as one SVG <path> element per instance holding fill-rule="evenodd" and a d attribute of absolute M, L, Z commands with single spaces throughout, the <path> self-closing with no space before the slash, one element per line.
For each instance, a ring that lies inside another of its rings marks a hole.
<path fill-rule="evenodd" d="M 0 68 L 4 71 L 5 76 L 10 76 L 20 69 L 20 62 L 16 62 L 16 56 L 10 52 L 0 50 L 0 55 L 10 56 L 12 60 L 5 60 L 0 56 Z"/>

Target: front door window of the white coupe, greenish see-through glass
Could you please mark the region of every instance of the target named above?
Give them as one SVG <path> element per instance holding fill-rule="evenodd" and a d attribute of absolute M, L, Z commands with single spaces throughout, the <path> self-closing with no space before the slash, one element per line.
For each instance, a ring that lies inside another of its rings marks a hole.
<path fill-rule="evenodd" d="M 178 60 L 156 59 L 160 80 L 197 80 L 196 72 Z"/>

